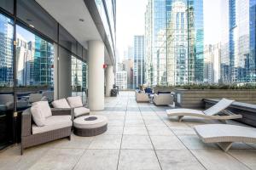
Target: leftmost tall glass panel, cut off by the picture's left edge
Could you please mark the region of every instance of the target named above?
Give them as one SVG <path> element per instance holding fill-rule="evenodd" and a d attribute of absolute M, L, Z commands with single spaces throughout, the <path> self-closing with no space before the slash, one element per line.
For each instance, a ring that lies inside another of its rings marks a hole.
<path fill-rule="evenodd" d="M 14 21 L 0 14 L 0 150 L 12 143 Z"/>

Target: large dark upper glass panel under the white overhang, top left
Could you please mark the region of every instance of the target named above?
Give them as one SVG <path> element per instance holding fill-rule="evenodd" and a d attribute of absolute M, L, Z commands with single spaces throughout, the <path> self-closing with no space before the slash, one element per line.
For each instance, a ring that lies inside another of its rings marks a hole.
<path fill-rule="evenodd" d="M 57 42 L 57 22 L 34 0 L 17 1 L 17 17 Z"/>

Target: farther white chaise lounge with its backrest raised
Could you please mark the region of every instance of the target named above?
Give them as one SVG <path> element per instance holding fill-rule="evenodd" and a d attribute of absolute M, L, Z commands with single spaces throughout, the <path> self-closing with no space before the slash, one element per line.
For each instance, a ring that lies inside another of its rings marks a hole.
<path fill-rule="evenodd" d="M 183 116 L 197 116 L 206 119 L 216 119 L 216 120 L 230 120 L 230 119 L 239 119 L 242 116 L 233 114 L 230 111 L 225 111 L 227 107 L 229 107 L 234 100 L 231 99 L 221 99 L 218 101 L 216 105 L 213 105 L 206 111 L 199 111 L 194 109 L 172 109 L 167 110 L 167 116 L 177 116 L 178 121 L 181 122 Z M 218 115 L 220 112 L 223 112 L 225 115 Z"/>

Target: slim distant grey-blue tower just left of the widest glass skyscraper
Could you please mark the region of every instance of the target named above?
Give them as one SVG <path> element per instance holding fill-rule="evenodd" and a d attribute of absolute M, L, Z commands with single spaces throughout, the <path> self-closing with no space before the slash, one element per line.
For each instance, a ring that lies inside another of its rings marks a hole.
<path fill-rule="evenodd" d="M 144 36 L 133 39 L 133 88 L 144 84 Z"/>

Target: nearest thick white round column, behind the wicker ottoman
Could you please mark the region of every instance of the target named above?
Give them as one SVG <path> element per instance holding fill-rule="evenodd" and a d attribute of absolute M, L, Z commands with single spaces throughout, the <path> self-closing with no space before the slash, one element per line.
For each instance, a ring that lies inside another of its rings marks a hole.
<path fill-rule="evenodd" d="M 104 110 L 104 44 L 88 42 L 88 105 L 91 111 Z"/>

